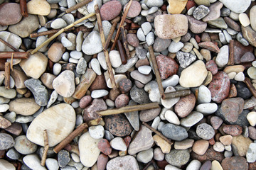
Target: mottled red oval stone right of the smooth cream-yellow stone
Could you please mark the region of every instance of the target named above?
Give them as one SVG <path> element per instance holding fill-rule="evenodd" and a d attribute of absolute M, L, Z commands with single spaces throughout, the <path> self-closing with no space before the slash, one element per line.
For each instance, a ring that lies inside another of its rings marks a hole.
<path fill-rule="evenodd" d="M 223 101 L 228 97 L 230 91 L 230 79 L 228 78 L 228 74 L 225 72 L 215 74 L 208 89 L 210 90 L 213 101 L 216 103 Z"/>

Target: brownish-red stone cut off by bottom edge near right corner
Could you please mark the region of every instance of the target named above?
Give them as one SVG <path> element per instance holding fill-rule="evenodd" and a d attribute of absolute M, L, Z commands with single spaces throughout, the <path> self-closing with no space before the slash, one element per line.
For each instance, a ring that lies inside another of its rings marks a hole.
<path fill-rule="evenodd" d="M 244 157 L 227 157 L 221 162 L 223 170 L 247 170 L 248 163 Z"/>

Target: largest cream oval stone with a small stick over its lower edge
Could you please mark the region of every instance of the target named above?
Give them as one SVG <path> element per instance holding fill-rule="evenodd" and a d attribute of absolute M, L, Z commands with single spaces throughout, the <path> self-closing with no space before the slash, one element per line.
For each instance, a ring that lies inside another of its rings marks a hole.
<path fill-rule="evenodd" d="M 29 125 L 26 136 L 31 142 L 44 146 L 43 130 L 47 130 L 49 147 L 53 147 L 63 141 L 74 128 L 74 108 L 60 103 L 38 115 Z"/>

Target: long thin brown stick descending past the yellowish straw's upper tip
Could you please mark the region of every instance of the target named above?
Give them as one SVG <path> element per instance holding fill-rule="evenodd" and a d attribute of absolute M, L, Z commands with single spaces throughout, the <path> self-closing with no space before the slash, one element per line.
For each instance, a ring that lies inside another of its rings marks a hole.
<path fill-rule="evenodd" d="M 99 10 L 99 6 L 97 4 L 95 5 L 95 13 L 96 13 L 96 17 L 97 17 L 98 28 L 100 30 L 100 40 L 102 41 L 102 46 L 104 46 L 105 45 L 105 36 L 104 36 L 103 28 L 102 28 L 100 10 Z M 112 72 L 112 65 L 111 65 L 111 62 L 110 62 L 109 53 L 108 53 L 107 50 L 104 50 L 104 54 L 105 54 L 105 59 L 106 59 L 106 62 L 107 62 L 107 71 L 110 74 L 110 81 L 112 83 L 113 89 L 117 89 L 117 84 L 115 83 L 114 74 Z"/>

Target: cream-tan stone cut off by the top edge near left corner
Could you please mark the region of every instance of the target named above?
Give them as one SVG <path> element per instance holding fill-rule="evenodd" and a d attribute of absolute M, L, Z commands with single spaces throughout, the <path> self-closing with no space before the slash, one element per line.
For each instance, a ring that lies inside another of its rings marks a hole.
<path fill-rule="evenodd" d="M 27 4 L 28 13 L 34 15 L 48 16 L 50 4 L 46 0 L 32 0 Z"/>

